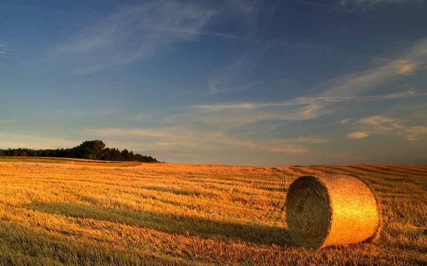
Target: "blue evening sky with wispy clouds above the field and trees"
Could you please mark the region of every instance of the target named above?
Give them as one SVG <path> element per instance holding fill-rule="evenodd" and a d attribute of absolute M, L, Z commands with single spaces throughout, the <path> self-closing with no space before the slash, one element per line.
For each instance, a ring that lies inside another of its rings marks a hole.
<path fill-rule="evenodd" d="M 0 1 L 0 148 L 427 164 L 427 2 Z"/>

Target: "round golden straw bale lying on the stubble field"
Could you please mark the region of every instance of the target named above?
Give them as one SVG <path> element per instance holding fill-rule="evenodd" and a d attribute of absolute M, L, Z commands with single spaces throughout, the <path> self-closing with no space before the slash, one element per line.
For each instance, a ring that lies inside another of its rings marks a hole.
<path fill-rule="evenodd" d="M 375 195 L 343 175 L 303 176 L 286 196 L 286 221 L 296 245 L 326 247 L 375 240 L 380 230 Z"/>

